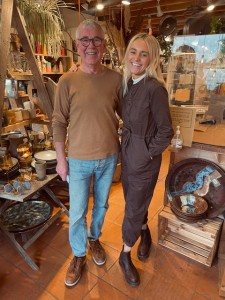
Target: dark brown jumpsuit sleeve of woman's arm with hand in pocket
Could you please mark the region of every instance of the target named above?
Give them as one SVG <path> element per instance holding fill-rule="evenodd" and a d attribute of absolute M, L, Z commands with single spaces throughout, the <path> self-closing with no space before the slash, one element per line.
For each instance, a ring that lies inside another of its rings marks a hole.
<path fill-rule="evenodd" d="M 148 145 L 151 157 L 161 154 L 169 145 L 173 136 L 167 90 L 157 86 L 151 95 L 151 111 L 155 123 L 155 135 Z"/>

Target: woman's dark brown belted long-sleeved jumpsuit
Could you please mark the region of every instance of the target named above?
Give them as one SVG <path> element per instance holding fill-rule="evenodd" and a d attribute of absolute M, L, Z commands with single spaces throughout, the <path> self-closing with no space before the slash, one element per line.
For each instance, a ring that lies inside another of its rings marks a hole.
<path fill-rule="evenodd" d="M 148 220 L 148 207 L 160 170 L 162 152 L 173 136 L 168 93 L 153 78 L 128 82 L 122 104 L 122 185 L 124 243 L 132 247 Z"/>

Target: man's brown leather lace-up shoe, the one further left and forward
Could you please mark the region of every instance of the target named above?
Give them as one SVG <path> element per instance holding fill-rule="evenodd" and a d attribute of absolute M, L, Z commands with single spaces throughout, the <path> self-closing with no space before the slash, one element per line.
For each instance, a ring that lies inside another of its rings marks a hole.
<path fill-rule="evenodd" d="M 86 263 L 86 256 L 76 257 L 70 263 L 65 277 L 65 285 L 74 286 L 81 278 L 83 266 Z"/>

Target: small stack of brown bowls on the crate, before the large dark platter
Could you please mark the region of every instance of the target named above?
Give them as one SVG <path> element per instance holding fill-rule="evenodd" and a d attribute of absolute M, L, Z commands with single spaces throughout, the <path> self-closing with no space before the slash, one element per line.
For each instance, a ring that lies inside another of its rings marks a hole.
<path fill-rule="evenodd" d="M 182 221 L 197 222 L 206 218 L 208 203 L 205 199 L 194 194 L 176 195 L 171 203 L 171 210 Z"/>

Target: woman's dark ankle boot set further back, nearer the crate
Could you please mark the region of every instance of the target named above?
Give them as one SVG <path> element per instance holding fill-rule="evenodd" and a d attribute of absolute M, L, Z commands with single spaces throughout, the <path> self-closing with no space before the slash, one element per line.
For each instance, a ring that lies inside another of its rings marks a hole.
<path fill-rule="evenodd" d="M 140 260 L 145 260 L 149 257 L 151 244 L 152 238 L 149 228 L 147 227 L 147 229 L 142 229 L 141 241 L 137 249 L 137 256 Z"/>

